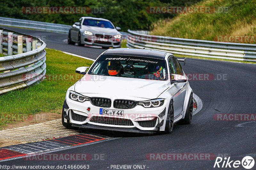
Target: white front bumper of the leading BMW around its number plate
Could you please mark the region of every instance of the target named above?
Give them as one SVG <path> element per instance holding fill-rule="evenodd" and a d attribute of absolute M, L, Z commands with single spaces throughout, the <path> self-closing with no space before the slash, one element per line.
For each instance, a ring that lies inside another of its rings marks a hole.
<path fill-rule="evenodd" d="M 114 100 L 112 99 L 112 101 Z M 133 132 L 158 131 L 161 126 L 160 123 L 163 123 L 163 120 L 166 119 L 166 114 L 162 117 L 159 117 L 159 114 L 164 110 L 168 110 L 168 107 L 167 109 L 165 108 L 169 105 L 169 102 L 166 101 L 164 105 L 156 108 L 144 108 L 143 106 L 137 105 L 132 109 L 116 109 L 113 107 L 112 103 L 110 108 L 104 108 L 109 110 L 124 110 L 124 116 L 117 117 L 100 115 L 100 108 L 102 107 L 94 106 L 90 101 L 81 103 L 67 97 L 66 103 L 68 108 L 65 109 L 64 113 L 66 115 L 64 114 L 63 117 L 68 118 L 69 120 L 66 121 L 69 121 L 72 126 L 94 129 L 97 127 L 96 129 Z M 90 108 L 90 111 L 87 110 L 87 108 Z M 97 117 L 97 120 L 107 120 L 108 123 L 102 123 L 102 121 L 97 122 L 95 121 L 95 117 Z M 118 124 L 115 124 L 115 121 L 118 122 Z M 125 122 L 125 124 L 122 124 L 122 121 Z M 127 122 L 129 122 L 129 124 L 127 124 Z"/>

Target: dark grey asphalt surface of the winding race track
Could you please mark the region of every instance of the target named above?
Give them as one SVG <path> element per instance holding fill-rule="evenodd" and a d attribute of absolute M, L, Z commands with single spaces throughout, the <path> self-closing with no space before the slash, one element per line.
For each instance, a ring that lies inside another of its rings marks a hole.
<path fill-rule="evenodd" d="M 7 27 L 6 27 L 7 28 Z M 67 35 L 10 28 L 26 34 L 45 36 L 48 48 L 95 59 L 104 49 L 68 45 Z M 77 65 L 77 67 L 80 67 Z M 145 169 L 234 169 L 213 168 L 212 160 L 148 160 L 148 153 L 210 153 L 242 160 L 256 160 L 256 121 L 216 121 L 214 114 L 256 114 L 256 65 L 224 61 L 187 59 L 185 73 L 210 75 L 212 80 L 190 80 L 190 85 L 203 101 L 203 108 L 193 116 L 190 125 L 174 125 L 171 134 L 141 135 L 97 131 L 114 137 L 92 145 L 54 153 L 104 154 L 104 160 L 25 161 L 15 159 L 0 165 L 90 165 L 90 169 L 110 169 L 111 165 L 145 165 Z M 218 75 L 217 75 L 218 74 Z M 221 80 L 214 80 L 223 77 Z M 212 78 L 214 76 L 214 78 Z M 109 167 L 109 168 L 108 168 Z M 252 168 L 255 169 L 256 165 Z M 113 168 L 112 168 L 113 169 Z M 242 166 L 236 169 L 244 169 Z"/>

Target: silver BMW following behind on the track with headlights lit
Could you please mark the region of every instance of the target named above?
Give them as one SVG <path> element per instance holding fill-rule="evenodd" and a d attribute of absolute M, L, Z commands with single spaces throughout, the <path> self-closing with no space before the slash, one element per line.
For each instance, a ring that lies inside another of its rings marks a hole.
<path fill-rule="evenodd" d="M 94 45 L 102 48 L 120 48 L 122 34 L 109 20 L 103 18 L 82 17 L 75 22 L 68 32 L 68 44 L 79 46 Z"/>

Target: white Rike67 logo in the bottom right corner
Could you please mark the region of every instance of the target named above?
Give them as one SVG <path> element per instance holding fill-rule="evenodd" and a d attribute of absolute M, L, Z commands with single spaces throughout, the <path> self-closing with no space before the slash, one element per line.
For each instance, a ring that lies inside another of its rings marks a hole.
<path fill-rule="evenodd" d="M 222 159 L 221 157 L 217 157 L 214 163 L 214 168 L 238 168 L 241 165 L 245 169 L 251 169 L 254 166 L 254 159 L 251 156 L 245 156 L 242 161 L 240 160 L 230 160 L 230 157 L 225 157 Z"/>

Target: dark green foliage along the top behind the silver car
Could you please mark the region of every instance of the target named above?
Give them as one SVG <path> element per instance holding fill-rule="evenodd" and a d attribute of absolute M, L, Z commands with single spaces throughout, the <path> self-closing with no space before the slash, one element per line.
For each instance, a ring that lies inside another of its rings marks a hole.
<path fill-rule="evenodd" d="M 150 25 L 159 18 L 172 18 L 176 14 L 154 14 L 146 11 L 149 6 L 187 6 L 199 0 L 0 0 L 1 17 L 28 19 L 35 21 L 51 22 L 72 25 L 80 17 L 91 16 L 111 20 L 115 26 L 120 26 L 122 31 L 127 29 L 149 29 Z M 105 13 L 89 14 L 25 14 L 23 7 L 75 7 L 90 8 L 104 7 Z"/>

